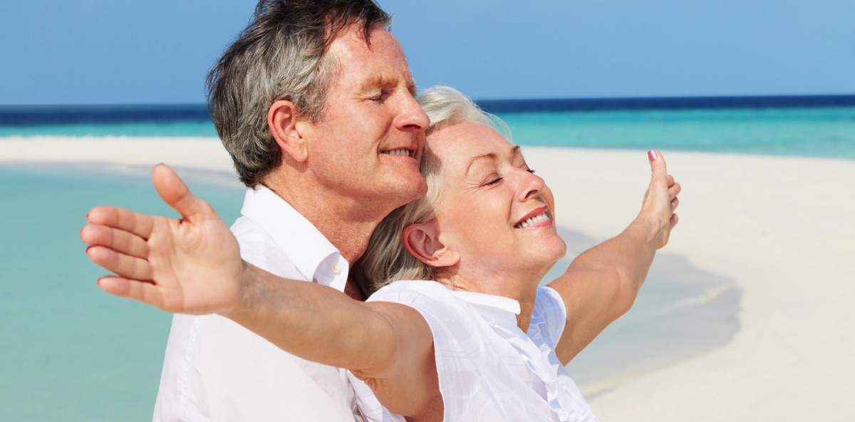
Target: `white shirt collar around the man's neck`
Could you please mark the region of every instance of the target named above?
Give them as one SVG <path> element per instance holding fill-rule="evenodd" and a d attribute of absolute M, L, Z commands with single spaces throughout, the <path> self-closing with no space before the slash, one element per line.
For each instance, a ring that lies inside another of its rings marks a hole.
<path fill-rule="evenodd" d="M 285 199 L 263 185 L 255 189 L 250 187 L 246 189 L 240 213 L 273 238 L 306 280 L 345 290 L 347 261 L 341 257 L 339 249 Z"/>

